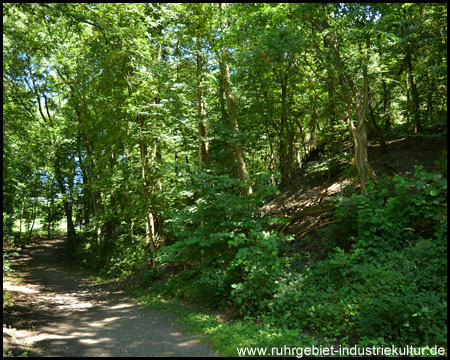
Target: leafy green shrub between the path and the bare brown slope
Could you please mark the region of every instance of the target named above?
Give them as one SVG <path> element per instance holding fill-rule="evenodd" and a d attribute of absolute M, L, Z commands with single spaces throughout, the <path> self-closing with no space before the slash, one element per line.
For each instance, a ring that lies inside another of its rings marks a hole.
<path fill-rule="evenodd" d="M 266 231 L 267 220 L 258 216 L 274 188 L 261 184 L 253 195 L 242 196 L 237 190 L 246 185 L 229 176 L 200 174 L 193 180 L 201 189 L 195 202 L 174 214 L 168 227 L 179 240 L 160 253 L 160 262 L 186 266 L 171 287 L 210 304 L 231 303 L 241 314 L 261 310 L 282 273 L 279 246 L 287 240 Z"/>

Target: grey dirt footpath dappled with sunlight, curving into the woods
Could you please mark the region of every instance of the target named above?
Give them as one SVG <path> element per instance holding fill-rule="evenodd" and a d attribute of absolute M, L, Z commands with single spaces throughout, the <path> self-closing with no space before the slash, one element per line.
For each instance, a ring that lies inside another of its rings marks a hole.
<path fill-rule="evenodd" d="M 144 310 L 115 284 L 81 275 L 64 257 L 63 239 L 30 245 L 12 268 L 23 281 L 3 282 L 14 304 L 3 306 L 3 344 L 9 355 L 215 356 L 174 320 Z"/>

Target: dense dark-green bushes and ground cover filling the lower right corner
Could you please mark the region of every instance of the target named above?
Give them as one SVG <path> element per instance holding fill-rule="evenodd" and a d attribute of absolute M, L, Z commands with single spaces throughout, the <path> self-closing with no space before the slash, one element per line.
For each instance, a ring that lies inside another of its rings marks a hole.
<path fill-rule="evenodd" d="M 270 305 L 279 322 L 341 341 L 446 345 L 446 188 L 419 167 L 341 199 L 326 234 L 347 251 L 284 277 Z"/>

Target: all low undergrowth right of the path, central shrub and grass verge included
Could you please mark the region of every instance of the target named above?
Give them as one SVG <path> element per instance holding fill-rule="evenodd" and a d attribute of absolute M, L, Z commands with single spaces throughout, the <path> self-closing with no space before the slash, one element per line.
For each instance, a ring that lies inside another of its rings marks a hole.
<path fill-rule="evenodd" d="M 296 261 L 302 254 L 281 251 L 290 238 L 266 230 L 269 219 L 259 216 L 273 188 L 244 197 L 229 177 L 195 181 L 201 191 L 168 225 L 172 245 L 133 290 L 140 302 L 175 312 L 224 355 L 235 356 L 236 347 L 313 344 L 446 348 L 442 174 L 419 167 L 411 178 L 368 184 L 367 196 L 339 198 L 335 221 L 318 233 L 332 251 L 303 266 Z M 175 299 L 231 312 L 234 320 Z"/>

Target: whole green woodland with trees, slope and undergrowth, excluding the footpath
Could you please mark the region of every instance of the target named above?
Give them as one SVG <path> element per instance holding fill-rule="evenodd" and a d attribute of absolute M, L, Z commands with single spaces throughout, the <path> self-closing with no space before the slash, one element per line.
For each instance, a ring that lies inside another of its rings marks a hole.
<path fill-rule="evenodd" d="M 221 354 L 446 349 L 446 139 L 445 3 L 3 4 L 4 273 L 63 231 Z"/>

